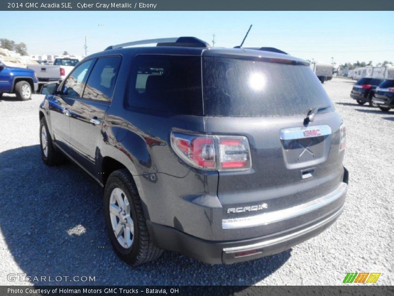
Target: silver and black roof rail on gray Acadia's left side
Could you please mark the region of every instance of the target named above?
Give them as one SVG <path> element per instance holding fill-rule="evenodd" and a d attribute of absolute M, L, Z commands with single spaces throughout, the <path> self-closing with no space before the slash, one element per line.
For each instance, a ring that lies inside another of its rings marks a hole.
<path fill-rule="evenodd" d="M 133 45 L 143 45 L 143 44 L 153 44 L 156 43 L 157 46 L 190 46 L 190 47 L 205 47 L 208 48 L 210 45 L 196 37 L 169 37 L 169 38 L 158 38 L 158 39 L 146 39 L 131 41 L 117 45 L 111 45 L 105 48 L 105 50 L 118 49 Z"/>

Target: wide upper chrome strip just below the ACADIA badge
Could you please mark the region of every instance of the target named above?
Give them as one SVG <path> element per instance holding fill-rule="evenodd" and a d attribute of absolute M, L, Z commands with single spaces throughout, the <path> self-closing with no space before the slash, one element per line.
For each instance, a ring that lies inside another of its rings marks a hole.
<path fill-rule="evenodd" d="M 346 183 L 341 183 L 335 190 L 331 191 L 327 195 L 316 198 L 314 200 L 308 201 L 306 203 L 300 204 L 298 206 L 274 211 L 270 213 L 265 213 L 261 215 L 242 217 L 242 218 L 231 218 L 222 220 L 223 229 L 237 229 L 245 227 L 254 227 L 266 225 L 269 223 L 280 222 L 283 220 L 292 219 L 307 213 L 313 212 L 322 208 L 336 199 L 340 198 L 346 194 L 348 185 Z"/>

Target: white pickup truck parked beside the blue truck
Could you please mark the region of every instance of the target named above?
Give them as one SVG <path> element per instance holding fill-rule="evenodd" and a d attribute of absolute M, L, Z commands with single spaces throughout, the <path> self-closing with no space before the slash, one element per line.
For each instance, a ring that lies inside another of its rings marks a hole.
<path fill-rule="evenodd" d="M 56 58 L 53 65 L 27 65 L 27 68 L 35 72 L 39 91 L 43 84 L 62 81 L 78 62 L 79 60 L 74 58 Z"/>

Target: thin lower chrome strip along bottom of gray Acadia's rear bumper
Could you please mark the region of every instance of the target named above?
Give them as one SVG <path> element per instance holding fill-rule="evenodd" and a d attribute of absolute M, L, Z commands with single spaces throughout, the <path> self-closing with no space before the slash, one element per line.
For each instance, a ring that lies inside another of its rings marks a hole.
<path fill-rule="evenodd" d="M 297 232 L 293 232 L 288 235 L 269 239 L 269 240 L 266 240 L 266 241 L 263 241 L 260 243 L 256 243 L 256 244 L 252 244 L 252 245 L 224 248 L 223 251 L 226 253 L 232 253 L 232 252 L 239 252 L 239 251 L 245 251 L 245 250 L 253 250 L 253 249 L 259 249 L 259 248 L 264 248 L 264 247 L 266 248 L 269 246 L 280 244 L 282 242 L 290 241 L 290 240 L 295 239 L 299 236 L 307 234 L 308 232 L 312 232 L 312 231 L 324 226 L 325 224 L 328 224 L 329 222 L 335 220 L 342 213 L 344 207 L 345 207 L 345 205 L 343 205 L 339 210 L 337 210 L 334 214 L 332 214 L 331 216 L 329 216 L 325 220 L 320 221 L 316 224 L 313 224 L 312 226 L 309 226 L 309 227 L 299 230 Z"/>

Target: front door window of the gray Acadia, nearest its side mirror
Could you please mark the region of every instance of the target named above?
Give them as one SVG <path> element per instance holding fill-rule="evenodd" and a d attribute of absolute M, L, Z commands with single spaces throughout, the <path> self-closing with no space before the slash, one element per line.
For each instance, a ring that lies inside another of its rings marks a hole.
<path fill-rule="evenodd" d="M 77 68 L 68 76 L 65 84 L 63 85 L 62 93 L 66 96 L 80 97 L 82 95 L 86 74 L 88 73 L 93 60 L 87 61 Z"/>

